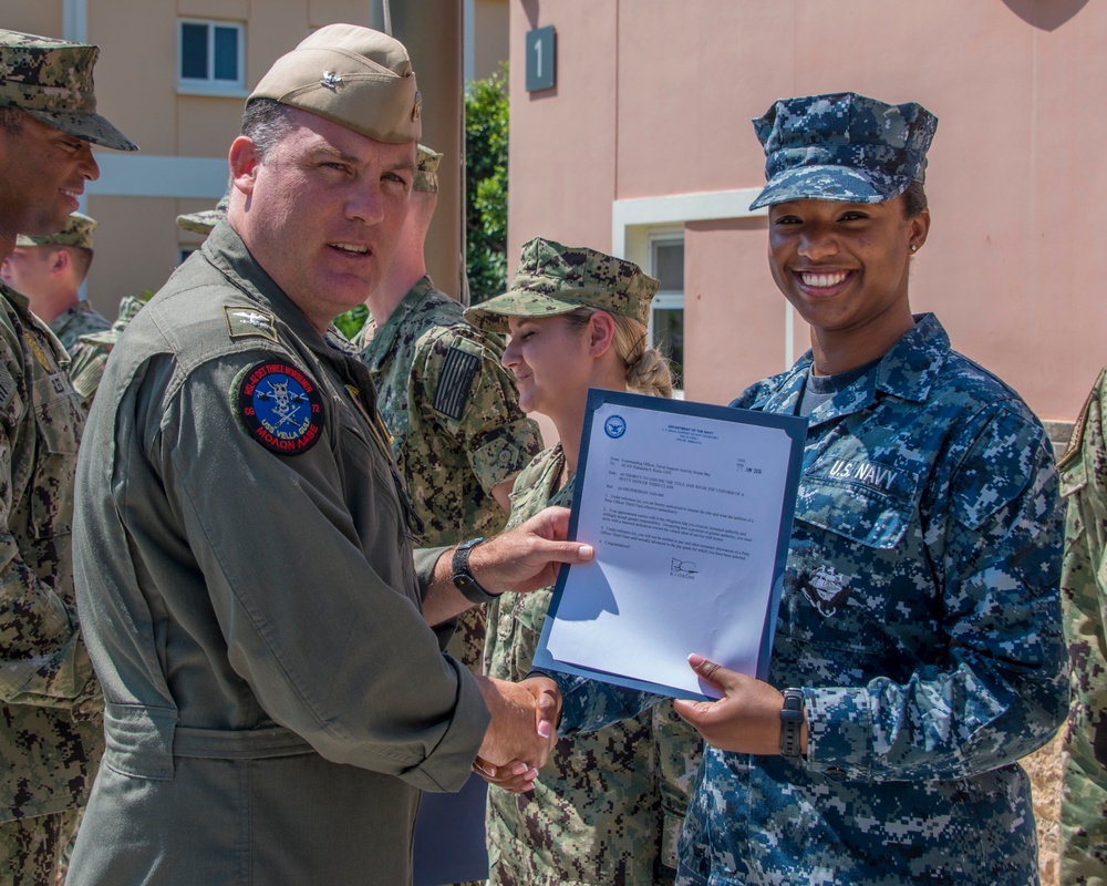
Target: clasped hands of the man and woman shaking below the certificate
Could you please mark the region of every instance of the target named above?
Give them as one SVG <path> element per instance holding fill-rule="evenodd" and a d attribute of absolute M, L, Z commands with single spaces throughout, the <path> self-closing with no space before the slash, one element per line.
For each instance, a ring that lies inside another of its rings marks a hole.
<path fill-rule="evenodd" d="M 490 677 L 477 680 L 492 722 L 473 771 L 505 791 L 529 791 L 557 743 L 561 714 L 557 683 L 548 677 L 530 677 L 518 683 Z"/>

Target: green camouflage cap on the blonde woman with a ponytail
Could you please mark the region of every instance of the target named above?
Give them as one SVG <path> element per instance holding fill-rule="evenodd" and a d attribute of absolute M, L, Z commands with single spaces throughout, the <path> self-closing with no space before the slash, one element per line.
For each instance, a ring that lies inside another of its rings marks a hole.
<path fill-rule="evenodd" d="M 631 261 L 535 237 L 523 246 L 510 290 L 469 308 L 465 319 L 478 329 L 506 332 L 508 317 L 551 317 L 597 308 L 648 324 L 658 286 Z"/>

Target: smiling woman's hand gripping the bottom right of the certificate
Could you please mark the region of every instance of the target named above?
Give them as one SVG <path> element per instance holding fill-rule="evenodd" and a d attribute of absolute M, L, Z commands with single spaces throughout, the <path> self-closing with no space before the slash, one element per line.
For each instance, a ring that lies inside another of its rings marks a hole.
<path fill-rule="evenodd" d="M 712 748 L 743 754 L 780 753 L 780 709 L 784 696 L 761 680 L 728 670 L 702 656 L 689 656 L 689 664 L 704 680 L 723 690 L 718 701 L 673 702 Z M 807 753 L 807 723 L 800 728 L 800 752 Z"/>

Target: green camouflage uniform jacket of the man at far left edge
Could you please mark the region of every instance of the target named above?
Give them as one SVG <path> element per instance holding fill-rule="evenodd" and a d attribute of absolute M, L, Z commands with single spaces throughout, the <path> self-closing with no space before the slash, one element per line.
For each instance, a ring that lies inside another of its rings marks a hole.
<path fill-rule="evenodd" d="M 82 804 L 103 751 L 73 596 L 73 475 L 84 419 L 58 339 L 0 286 L 0 839 Z M 18 761 L 18 763 L 17 763 Z"/>

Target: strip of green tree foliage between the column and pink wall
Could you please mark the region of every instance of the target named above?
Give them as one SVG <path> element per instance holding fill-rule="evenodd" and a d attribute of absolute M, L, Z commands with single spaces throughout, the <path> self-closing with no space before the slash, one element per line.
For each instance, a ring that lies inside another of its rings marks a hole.
<path fill-rule="evenodd" d="M 507 62 L 465 93 L 465 268 L 469 301 L 498 296 L 507 284 Z"/>

